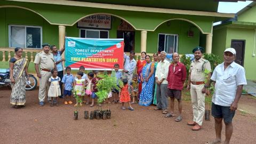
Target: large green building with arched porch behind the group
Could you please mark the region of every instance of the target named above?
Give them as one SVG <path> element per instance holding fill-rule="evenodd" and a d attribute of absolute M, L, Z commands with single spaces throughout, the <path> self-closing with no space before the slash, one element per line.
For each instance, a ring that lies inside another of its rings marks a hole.
<path fill-rule="evenodd" d="M 0 67 L 9 67 L 13 47 L 25 47 L 33 73 L 42 43 L 62 47 L 65 36 L 124 38 L 136 59 L 142 51 L 186 54 L 196 46 L 211 53 L 213 22 L 234 17 L 217 10 L 214 0 L 0 1 Z"/>

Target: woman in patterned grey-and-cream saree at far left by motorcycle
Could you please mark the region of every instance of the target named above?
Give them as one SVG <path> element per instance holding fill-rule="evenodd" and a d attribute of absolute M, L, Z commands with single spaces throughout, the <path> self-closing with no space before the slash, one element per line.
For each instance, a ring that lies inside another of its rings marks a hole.
<path fill-rule="evenodd" d="M 15 48 L 15 55 L 9 61 L 10 66 L 10 80 L 12 93 L 10 98 L 10 103 L 15 108 L 25 106 L 26 97 L 25 97 L 25 86 L 26 79 L 28 79 L 28 60 L 22 58 L 23 49 L 20 47 Z M 26 78 L 26 75 L 27 78 Z"/>

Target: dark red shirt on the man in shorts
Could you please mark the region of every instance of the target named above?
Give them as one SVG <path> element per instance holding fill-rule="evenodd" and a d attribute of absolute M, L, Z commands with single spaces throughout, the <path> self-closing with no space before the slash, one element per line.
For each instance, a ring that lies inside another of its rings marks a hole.
<path fill-rule="evenodd" d="M 183 63 L 178 62 L 177 65 L 175 66 L 174 69 L 174 64 L 172 63 L 169 66 L 169 71 L 167 75 L 167 82 L 168 82 L 168 88 L 169 89 L 174 89 L 174 90 L 183 90 L 183 84 L 186 80 L 187 77 L 187 71 L 186 67 L 183 65 Z"/>

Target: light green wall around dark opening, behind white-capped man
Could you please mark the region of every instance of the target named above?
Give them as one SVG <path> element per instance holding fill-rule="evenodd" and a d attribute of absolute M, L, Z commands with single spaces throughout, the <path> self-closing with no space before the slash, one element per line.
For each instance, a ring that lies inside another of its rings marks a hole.
<path fill-rule="evenodd" d="M 253 43 L 254 43 L 254 29 L 228 28 L 226 47 L 231 46 L 231 39 L 245 40 L 245 53 L 244 53 L 245 75 L 246 75 L 246 79 L 255 80 L 256 79 L 256 75 L 255 75 L 256 57 L 252 57 Z"/>

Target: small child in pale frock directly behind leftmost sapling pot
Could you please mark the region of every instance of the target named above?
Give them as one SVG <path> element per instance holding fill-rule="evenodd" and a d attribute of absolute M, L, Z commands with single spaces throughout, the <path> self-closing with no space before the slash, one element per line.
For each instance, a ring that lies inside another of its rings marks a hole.
<path fill-rule="evenodd" d="M 78 97 L 82 97 L 85 92 L 84 92 L 84 81 L 85 79 L 82 78 L 82 76 L 84 75 L 84 73 L 82 71 L 78 71 L 76 74 L 77 79 L 75 79 L 75 88 L 74 91 L 76 92 L 76 95 L 78 95 Z M 82 102 L 78 103 L 78 101 L 76 100 L 76 105 L 80 105 L 82 106 Z"/>

